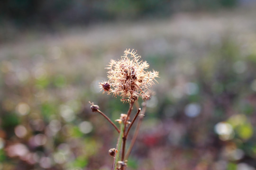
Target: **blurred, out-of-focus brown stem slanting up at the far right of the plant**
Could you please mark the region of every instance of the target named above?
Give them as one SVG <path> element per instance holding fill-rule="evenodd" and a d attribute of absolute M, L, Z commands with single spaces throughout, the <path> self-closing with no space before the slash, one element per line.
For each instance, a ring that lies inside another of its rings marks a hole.
<path fill-rule="evenodd" d="M 142 108 L 141 114 L 145 115 L 145 112 L 146 112 L 146 102 L 143 102 L 142 105 L 143 105 L 143 108 Z M 129 146 L 128 150 L 127 150 L 127 153 L 125 155 L 125 160 L 128 160 L 128 157 L 129 157 L 129 155 L 131 153 L 131 150 L 132 150 L 132 148 L 133 148 L 133 146 L 135 144 L 135 141 L 137 139 L 139 128 L 140 128 L 140 125 L 141 125 L 141 122 L 142 122 L 143 118 L 144 118 L 144 116 L 140 116 L 139 119 L 138 119 L 138 123 L 137 123 L 136 129 L 135 129 L 134 135 L 132 137 L 131 144 L 130 144 L 130 146 Z"/>

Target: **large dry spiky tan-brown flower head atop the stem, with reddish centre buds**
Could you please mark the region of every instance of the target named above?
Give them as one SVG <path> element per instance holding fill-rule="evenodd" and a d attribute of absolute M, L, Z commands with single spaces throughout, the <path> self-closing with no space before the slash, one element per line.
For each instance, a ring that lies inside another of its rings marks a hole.
<path fill-rule="evenodd" d="M 130 102 L 139 96 L 148 100 L 148 90 L 154 84 L 155 77 L 158 77 L 157 71 L 145 71 L 149 64 L 139 60 L 140 56 L 136 52 L 128 49 L 121 59 L 111 60 L 107 68 L 109 81 L 101 83 L 104 92 L 121 96 L 121 101 Z"/>

